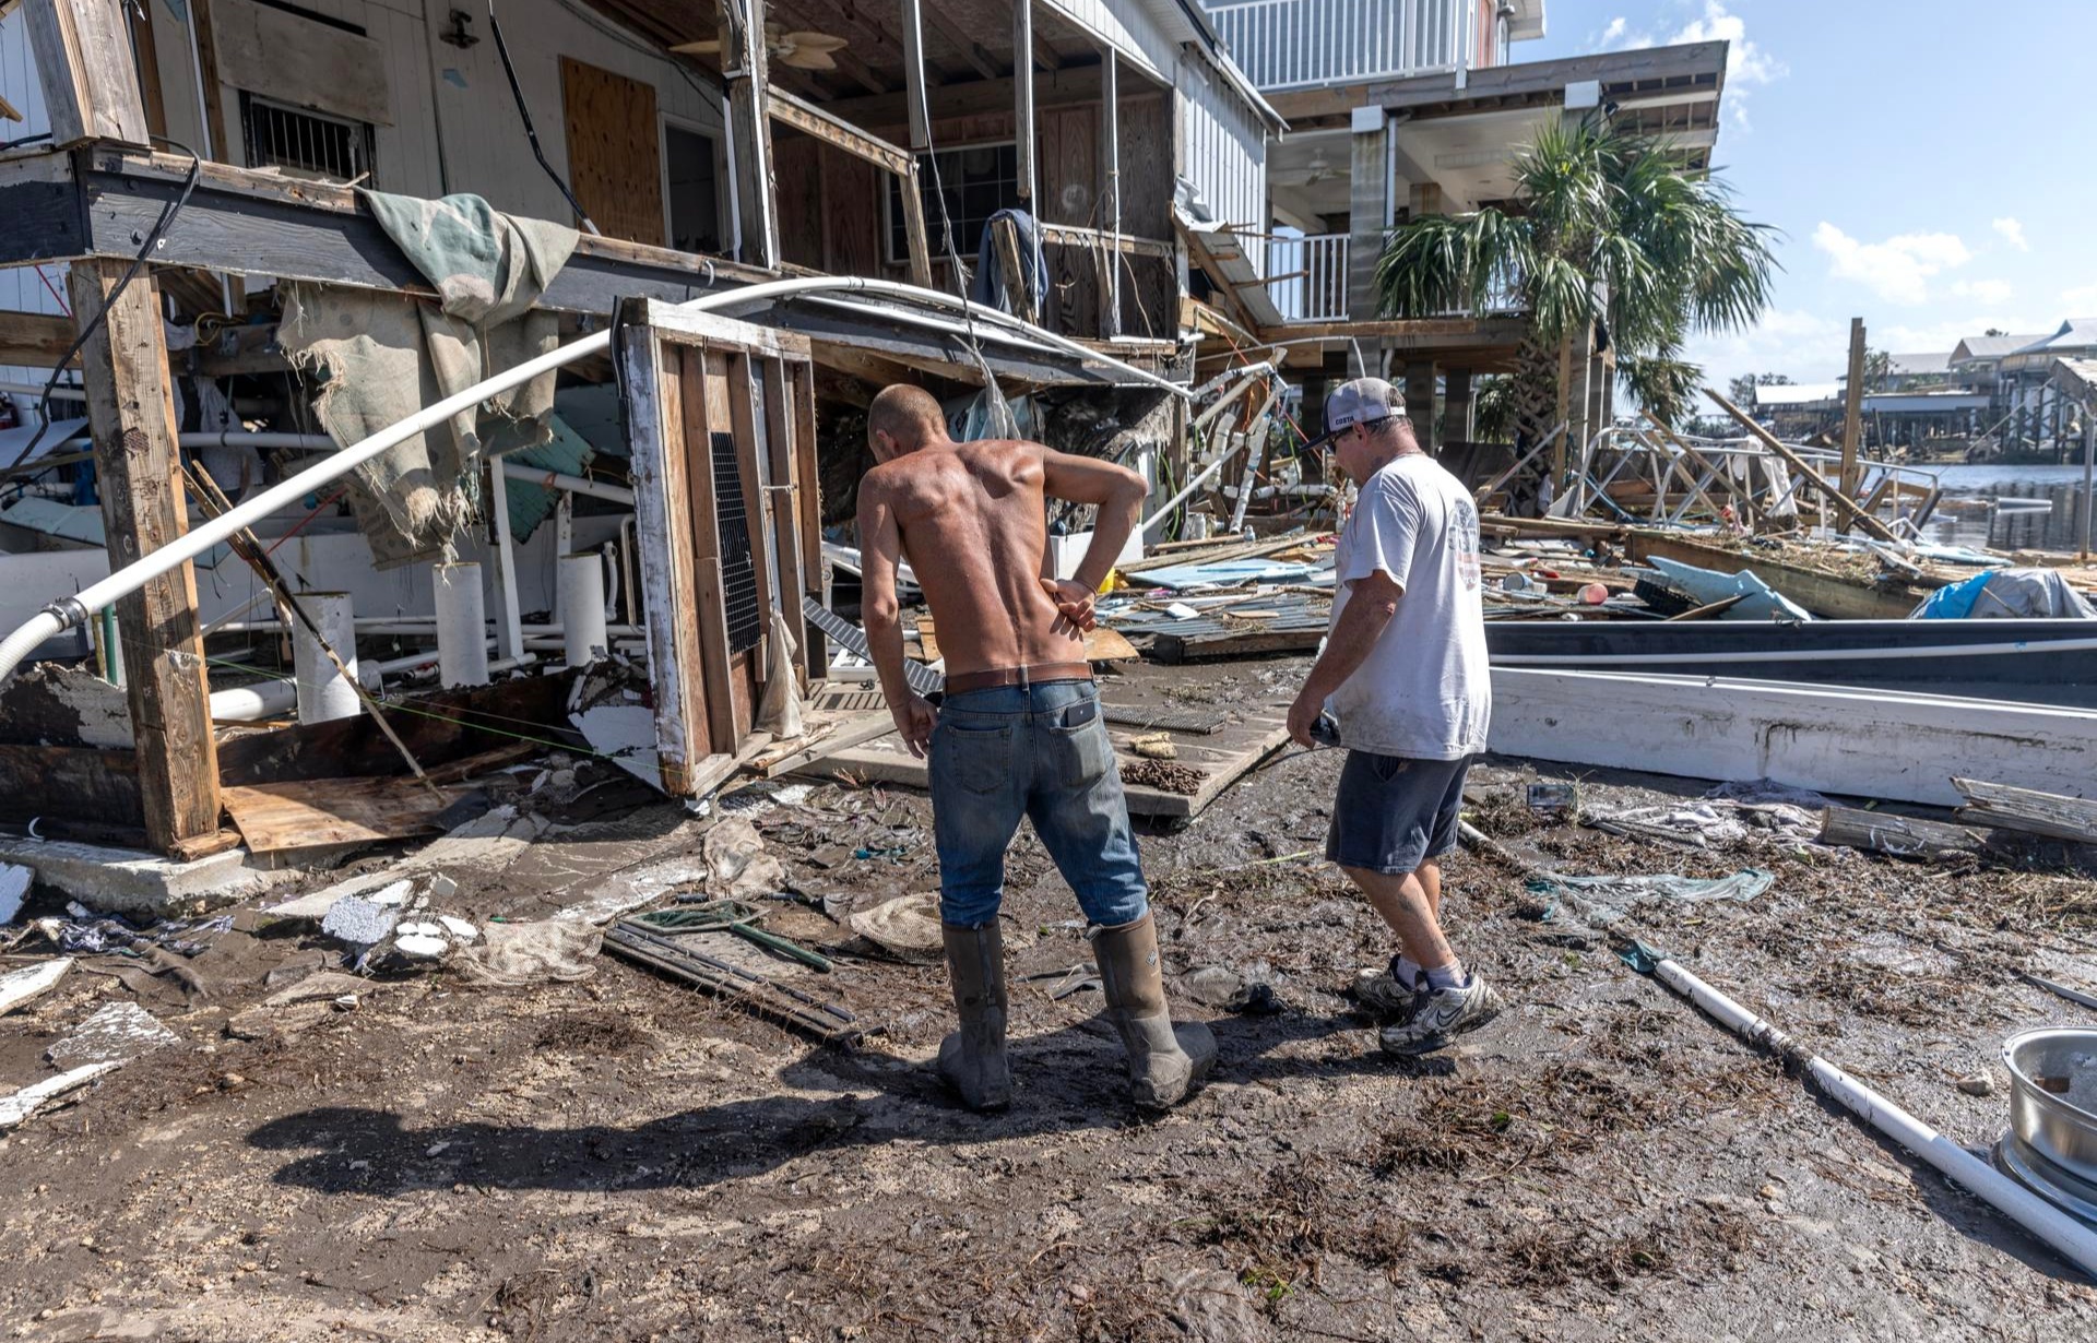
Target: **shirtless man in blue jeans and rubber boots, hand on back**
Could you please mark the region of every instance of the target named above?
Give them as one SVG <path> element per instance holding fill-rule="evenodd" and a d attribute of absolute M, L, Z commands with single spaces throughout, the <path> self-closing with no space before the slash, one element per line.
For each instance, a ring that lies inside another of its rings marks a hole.
<path fill-rule="evenodd" d="M 1004 1056 L 1004 846 L 1019 817 L 1048 849 L 1093 922 L 1107 1020 L 1128 1048 L 1143 1108 L 1166 1108 L 1216 1060 L 1199 1022 L 1174 1027 L 1158 930 L 1122 775 L 1099 714 L 1084 631 L 1093 595 L 1143 507 L 1143 478 L 1038 442 L 952 442 L 939 402 L 893 386 L 866 413 L 872 471 L 860 482 L 866 641 L 912 754 L 931 752 L 939 920 L 960 1029 L 939 1075 L 975 1110 L 1011 1104 Z M 1076 578 L 1042 578 L 1046 499 L 1099 505 Z M 946 696 L 935 710 L 904 681 L 895 564 L 908 555 L 939 624 Z"/>

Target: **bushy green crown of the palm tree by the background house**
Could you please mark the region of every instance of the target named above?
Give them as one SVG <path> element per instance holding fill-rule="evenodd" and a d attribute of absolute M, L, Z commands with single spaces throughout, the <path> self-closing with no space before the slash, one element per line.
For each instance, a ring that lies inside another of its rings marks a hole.
<path fill-rule="evenodd" d="M 1600 323 L 1617 377 L 1665 423 L 1692 409 L 1692 333 L 1741 331 L 1770 304 L 1770 228 L 1665 142 L 1608 124 L 1545 124 L 1516 157 L 1510 210 L 1399 224 L 1376 266 L 1388 316 L 1487 312 L 1516 300 L 1529 331 L 1508 394 L 1516 448 L 1556 423 L 1558 352 Z"/>

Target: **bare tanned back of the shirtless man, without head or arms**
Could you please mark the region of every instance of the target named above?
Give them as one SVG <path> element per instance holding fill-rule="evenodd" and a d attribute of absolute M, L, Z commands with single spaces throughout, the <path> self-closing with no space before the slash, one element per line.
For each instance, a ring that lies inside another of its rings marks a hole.
<path fill-rule="evenodd" d="M 1040 585 L 1044 450 L 1011 438 L 929 446 L 860 484 L 895 515 L 948 675 L 1084 656 L 1082 633 L 1057 620 Z"/>

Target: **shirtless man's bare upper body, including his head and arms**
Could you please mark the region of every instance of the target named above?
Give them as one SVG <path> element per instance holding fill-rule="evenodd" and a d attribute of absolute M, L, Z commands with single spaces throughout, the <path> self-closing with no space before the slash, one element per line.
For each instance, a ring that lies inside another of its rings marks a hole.
<path fill-rule="evenodd" d="M 879 463 L 860 480 L 866 643 L 910 748 L 931 740 L 931 706 L 904 681 L 895 568 L 908 553 L 939 626 L 950 677 L 1084 660 L 1093 595 L 1143 509 L 1143 478 L 1093 457 L 1013 438 L 952 442 L 923 388 L 887 388 L 866 417 Z M 1042 576 L 1046 501 L 1099 507 L 1072 578 Z"/>

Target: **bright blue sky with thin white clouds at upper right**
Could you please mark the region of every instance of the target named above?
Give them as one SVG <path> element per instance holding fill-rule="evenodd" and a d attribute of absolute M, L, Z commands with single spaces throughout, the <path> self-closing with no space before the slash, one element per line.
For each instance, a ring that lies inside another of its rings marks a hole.
<path fill-rule="evenodd" d="M 2097 4 L 1548 0 L 1545 23 L 1516 61 L 1732 42 L 1713 163 L 1785 272 L 1755 331 L 1692 342 L 1717 386 L 1833 381 L 1852 316 L 1925 352 L 2097 314 Z"/>

